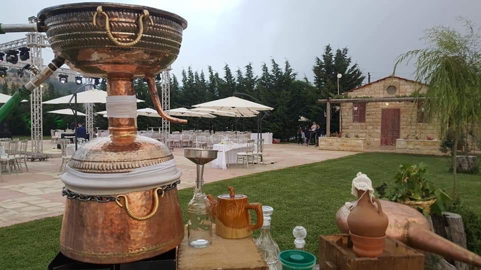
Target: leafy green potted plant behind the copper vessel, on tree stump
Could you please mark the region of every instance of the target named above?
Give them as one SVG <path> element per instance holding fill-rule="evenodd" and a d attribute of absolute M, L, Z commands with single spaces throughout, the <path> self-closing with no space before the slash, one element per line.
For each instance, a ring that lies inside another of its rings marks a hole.
<path fill-rule="evenodd" d="M 431 211 L 441 214 L 445 204 L 451 199 L 431 181 L 426 180 L 425 172 L 426 166 L 423 163 L 399 165 L 399 171 L 394 176 L 393 190 L 388 195 L 389 200 L 417 208 L 426 216 Z"/>

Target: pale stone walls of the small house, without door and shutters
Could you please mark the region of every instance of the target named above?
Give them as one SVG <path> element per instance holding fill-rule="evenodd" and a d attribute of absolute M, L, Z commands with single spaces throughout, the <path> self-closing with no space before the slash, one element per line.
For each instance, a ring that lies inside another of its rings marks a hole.
<path fill-rule="evenodd" d="M 387 86 L 394 85 L 397 91 L 389 94 L 386 91 Z M 370 97 L 395 97 L 396 95 L 410 95 L 421 85 L 409 80 L 399 78 L 387 78 L 378 82 L 373 82 L 361 88 L 355 89 L 349 93 L 349 96 L 370 96 Z M 424 91 L 426 86 L 421 88 Z M 416 134 L 420 134 L 421 139 L 427 136 L 437 138 L 439 130 L 433 123 L 417 122 L 417 104 L 414 102 L 370 102 L 366 103 L 366 121 L 352 121 L 353 103 L 342 103 L 342 133 L 353 137 L 366 137 L 367 147 L 375 148 L 381 145 L 381 109 L 382 108 L 399 108 L 401 111 L 401 132 L 400 138 L 409 135 L 414 138 Z"/>

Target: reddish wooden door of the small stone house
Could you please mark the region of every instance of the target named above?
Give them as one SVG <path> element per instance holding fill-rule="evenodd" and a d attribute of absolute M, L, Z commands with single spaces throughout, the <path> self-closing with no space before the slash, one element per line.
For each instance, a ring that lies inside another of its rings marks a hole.
<path fill-rule="evenodd" d="M 381 145 L 394 145 L 401 134 L 401 109 L 381 110 Z"/>

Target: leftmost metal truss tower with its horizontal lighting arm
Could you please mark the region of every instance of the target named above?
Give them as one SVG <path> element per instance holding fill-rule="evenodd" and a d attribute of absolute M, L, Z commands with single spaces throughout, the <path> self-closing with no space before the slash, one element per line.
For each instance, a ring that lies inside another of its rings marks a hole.
<path fill-rule="evenodd" d="M 37 17 L 29 17 L 30 23 L 37 23 Z M 38 68 L 43 67 L 42 48 L 49 47 L 48 39 L 45 34 L 38 32 L 28 32 L 25 38 L 9 41 L 0 44 L 0 51 L 9 49 L 16 50 L 20 47 L 30 48 L 30 64 Z M 33 75 L 31 74 L 31 77 Z M 45 159 L 43 153 L 43 128 L 42 128 L 42 89 L 35 88 L 30 95 L 30 118 L 32 130 L 32 159 Z"/>

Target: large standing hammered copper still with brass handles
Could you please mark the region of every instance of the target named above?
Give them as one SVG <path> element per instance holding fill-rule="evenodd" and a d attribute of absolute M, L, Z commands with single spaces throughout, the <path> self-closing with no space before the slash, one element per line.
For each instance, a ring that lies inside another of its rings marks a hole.
<path fill-rule="evenodd" d="M 39 30 L 47 32 L 56 56 L 65 58 L 72 69 L 106 77 L 108 96 L 135 95 L 133 79 L 145 77 L 159 114 L 186 122 L 162 111 L 154 81 L 154 74 L 177 57 L 187 26 L 183 18 L 156 8 L 117 3 L 58 5 L 41 10 L 38 18 Z M 163 143 L 137 135 L 135 117 L 109 117 L 109 131 L 108 137 L 91 140 L 76 151 L 62 175 L 70 199 L 62 221 L 61 251 L 80 261 L 122 263 L 177 246 L 184 236 L 177 191 L 171 185 L 178 181 L 178 170 L 167 175 L 172 176 L 168 183 L 137 185 L 141 179 L 132 179 L 115 192 L 89 186 L 100 174 L 122 177 L 173 161 Z M 87 180 L 73 185 L 69 179 L 76 173 L 86 173 L 82 179 Z M 118 185 L 112 179 L 112 185 Z M 110 200 L 100 202 L 103 198 Z"/>

